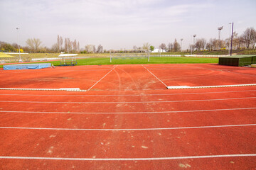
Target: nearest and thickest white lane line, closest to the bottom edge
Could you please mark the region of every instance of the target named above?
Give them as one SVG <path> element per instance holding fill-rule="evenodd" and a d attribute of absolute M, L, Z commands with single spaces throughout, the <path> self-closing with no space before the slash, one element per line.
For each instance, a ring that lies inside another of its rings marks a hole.
<path fill-rule="evenodd" d="M 256 154 L 219 154 L 188 157 L 149 157 L 149 158 L 67 158 L 67 157 L 4 157 L 0 159 L 39 159 L 39 160 L 62 160 L 62 161 L 158 161 L 175 159 L 203 159 L 223 157 L 256 157 Z"/>

